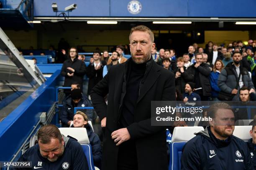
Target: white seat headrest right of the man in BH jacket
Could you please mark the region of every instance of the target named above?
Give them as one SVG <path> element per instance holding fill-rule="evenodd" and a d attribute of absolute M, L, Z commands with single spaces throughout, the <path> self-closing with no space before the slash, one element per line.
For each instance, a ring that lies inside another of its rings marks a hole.
<path fill-rule="evenodd" d="M 252 126 L 235 126 L 233 135 L 240 138 L 243 141 L 248 141 L 251 139 L 250 130 Z"/>

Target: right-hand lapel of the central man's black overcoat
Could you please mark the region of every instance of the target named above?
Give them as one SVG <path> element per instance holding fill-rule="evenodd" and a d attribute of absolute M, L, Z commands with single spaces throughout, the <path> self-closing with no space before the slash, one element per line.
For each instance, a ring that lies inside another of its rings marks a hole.
<path fill-rule="evenodd" d="M 160 75 L 160 72 L 158 72 L 154 63 L 150 71 L 146 75 L 147 77 L 145 78 L 145 81 L 141 85 L 141 91 L 140 91 L 140 95 L 138 96 L 137 103 L 144 97 L 144 95 L 146 95 L 148 90 L 150 90 L 150 88 L 154 85 L 159 75 Z"/>

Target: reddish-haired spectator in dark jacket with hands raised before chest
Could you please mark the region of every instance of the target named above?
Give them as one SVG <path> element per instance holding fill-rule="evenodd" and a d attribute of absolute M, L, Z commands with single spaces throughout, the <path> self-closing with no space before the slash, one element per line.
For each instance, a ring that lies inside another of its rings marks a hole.
<path fill-rule="evenodd" d="M 181 93 L 185 92 L 186 82 L 192 81 L 192 77 L 187 73 L 186 67 L 184 66 L 183 57 L 177 58 L 177 66 L 173 70 L 175 74 L 175 86 Z"/>

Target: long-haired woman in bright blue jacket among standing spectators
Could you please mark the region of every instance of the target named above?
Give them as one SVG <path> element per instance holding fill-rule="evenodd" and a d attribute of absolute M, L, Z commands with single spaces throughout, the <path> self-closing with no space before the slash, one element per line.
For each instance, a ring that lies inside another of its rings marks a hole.
<path fill-rule="evenodd" d="M 218 101 L 218 94 L 220 92 L 220 88 L 218 87 L 218 78 L 221 70 L 224 68 L 224 64 L 221 60 L 216 60 L 212 72 L 210 75 L 210 83 L 212 87 L 212 100 Z"/>

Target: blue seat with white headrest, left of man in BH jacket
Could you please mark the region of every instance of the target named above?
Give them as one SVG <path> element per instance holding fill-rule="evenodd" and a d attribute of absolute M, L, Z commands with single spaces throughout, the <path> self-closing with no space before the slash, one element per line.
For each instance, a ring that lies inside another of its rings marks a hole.
<path fill-rule="evenodd" d="M 175 127 L 172 134 L 172 143 L 170 143 L 170 163 L 169 170 L 180 170 L 180 159 L 182 148 L 190 139 L 194 138 L 194 133 L 204 130 L 202 126 L 194 127 Z"/>

